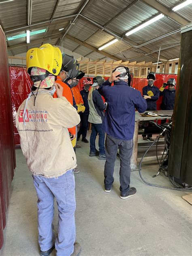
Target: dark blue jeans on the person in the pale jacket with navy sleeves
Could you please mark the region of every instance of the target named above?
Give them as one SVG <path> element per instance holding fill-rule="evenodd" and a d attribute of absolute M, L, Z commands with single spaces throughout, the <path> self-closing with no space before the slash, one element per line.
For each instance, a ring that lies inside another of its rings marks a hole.
<path fill-rule="evenodd" d="M 92 132 L 90 137 L 90 152 L 95 152 L 95 140 L 99 134 L 99 154 L 105 154 L 105 132 L 102 129 L 102 124 L 92 124 Z"/>

